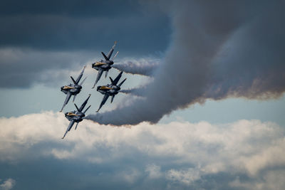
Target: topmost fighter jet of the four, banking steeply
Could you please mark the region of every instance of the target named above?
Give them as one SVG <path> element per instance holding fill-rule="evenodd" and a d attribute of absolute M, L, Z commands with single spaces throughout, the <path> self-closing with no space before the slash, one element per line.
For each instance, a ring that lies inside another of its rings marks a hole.
<path fill-rule="evenodd" d="M 92 68 L 94 68 L 95 70 L 98 70 L 98 74 L 97 74 L 97 78 L 95 80 L 95 83 L 93 85 L 93 88 L 95 88 L 95 85 L 98 83 L 98 80 L 100 80 L 101 75 L 103 74 L 103 72 L 105 71 L 105 78 L 108 75 L 108 71 L 110 70 L 111 65 L 114 64 L 114 58 L 118 55 L 118 51 L 117 53 L 115 53 L 115 56 L 111 58 L 112 53 L 114 51 L 115 45 L 116 45 L 117 41 L 115 41 L 114 46 L 110 49 L 108 55 L 106 56 L 105 53 L 101 52 L 103 57 L 105 58 L 105 60 L 101 60 L 101 61 L 97 61 L 95 63 L 92 64 Z"/>

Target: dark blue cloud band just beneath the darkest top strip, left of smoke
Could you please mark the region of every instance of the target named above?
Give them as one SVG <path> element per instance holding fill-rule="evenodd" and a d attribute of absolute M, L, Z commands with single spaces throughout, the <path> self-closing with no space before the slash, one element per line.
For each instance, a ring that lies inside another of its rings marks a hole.
<path fill-rule="evenodd" d="M 73 18 L 54 15 L 1 17 L 0 46 L 49 51 L 106 51 L 119 41 L 122 53 L 164 51 L 169 37 L 167 19 L 155 16 Z M 152 44 L 150 46 L 150 44 Z"/>

